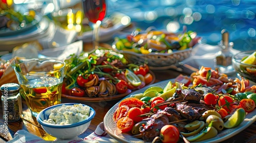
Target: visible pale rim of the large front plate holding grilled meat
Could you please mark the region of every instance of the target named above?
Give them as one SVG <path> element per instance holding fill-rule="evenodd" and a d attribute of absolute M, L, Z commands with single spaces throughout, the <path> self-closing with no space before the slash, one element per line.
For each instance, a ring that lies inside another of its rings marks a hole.
<path fill-rule="evenodd" d="M 137 94 L 137 93 L 141 93 L 144 92 L 148 87 L 152 87 L 152 86 L 159 86 L 164 88 L 165 85 L 169 82 L 170 80 L 165 80 L 165 81 L 161 81 L 155 84 L 151 84 L 150 86 L 146 86 L 144 88 L 141 88 L 137 91 L 134 91 L 132 94 Z M 174 82 L 174 79 L 171 79 L 172 82 Z M 127 97 L 130 97 L 131 94 L 129 94 Z M 106 115 L 104 116 L 104 128 L 106 130 L 106 132 L 113 137 L 114 139 L 120 141 L 120 142 L 145 142 L 142 139 L 139 138 L 135 138 L 132 137 L 132 135 L 127 134 L 127 133 L 122 133 L 120 129 L 118 129 L 116 127 L 116 123 L 113 121 L 113 114 L 115 112 L 115 110 L 118 107 L 119 102 L 114 105 L 109 111 L 108 113 L 106 113 Z M 236 134 L 238 134 L 239 132 L 243 131 L 244 129 L 246 129 L 247 127 L 249 127 L 253 122 L 256 121 L 256 110 L 248 113 L 245 117 L 245 120 L 238 126 L 235 128 L 231 128 L 231 129 L 226 129 L 223 130 L 221 133 L 219 133 L 217 136 L 215 136 L 214 138 L 210 138 L 207 140 L 203 140 L 201 141 L 203 142 L 221 142 L 223 140 L 226 140 Z"/>

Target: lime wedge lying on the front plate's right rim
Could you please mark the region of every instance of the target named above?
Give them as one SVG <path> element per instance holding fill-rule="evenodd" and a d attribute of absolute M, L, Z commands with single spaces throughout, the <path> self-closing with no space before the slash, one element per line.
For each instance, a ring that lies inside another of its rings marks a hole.
<path fill-rule="evenodd" d="M 231 117 L 224 123 L 224 127 L 227 129 L 237 127 L 240 125 L 245 118 L 246 112 L 243 108 L 239 108 Z"/>

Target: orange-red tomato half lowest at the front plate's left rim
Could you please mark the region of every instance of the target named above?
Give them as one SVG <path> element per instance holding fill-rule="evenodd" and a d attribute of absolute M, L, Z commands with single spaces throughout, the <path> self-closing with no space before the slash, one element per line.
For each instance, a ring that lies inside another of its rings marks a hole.
<path fill-rule="evenodd" d="M 121 117 L 117 123 L 117 127 L 124 133 L 132 130 L 134 122 L 130 117 Z"/>

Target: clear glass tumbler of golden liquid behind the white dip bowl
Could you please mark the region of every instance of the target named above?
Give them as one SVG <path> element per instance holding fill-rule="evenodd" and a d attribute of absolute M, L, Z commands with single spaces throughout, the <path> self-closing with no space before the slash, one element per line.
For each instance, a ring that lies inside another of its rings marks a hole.
<path fill-rule="evenodd" d="M 61 103 L 61 87 L 65 76 L 65 62 L 57 59 L 30 59 L 13 63 L 20 92 L 31 114 L 37 114 Z"/>

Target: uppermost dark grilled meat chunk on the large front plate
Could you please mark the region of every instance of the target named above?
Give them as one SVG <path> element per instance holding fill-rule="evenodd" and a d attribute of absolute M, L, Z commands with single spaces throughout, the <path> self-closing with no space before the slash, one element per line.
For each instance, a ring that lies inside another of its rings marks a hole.
<path fill-rule="evenodd" d="M 193 100 L 193 101 L 200 101 L 201 97 L 203 96 L 202 93 L 194 90 L 194 89 L 176 89 L 172 100 L 175 98 L 182 97 L 183 100 Z"/>

